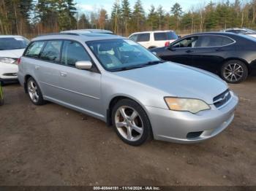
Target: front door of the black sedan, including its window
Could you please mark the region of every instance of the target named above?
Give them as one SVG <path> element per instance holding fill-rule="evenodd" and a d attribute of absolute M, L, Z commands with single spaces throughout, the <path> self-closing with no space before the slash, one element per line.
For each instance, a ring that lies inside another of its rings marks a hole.
<path fill-rule="evenodd" d="M 165 61 L 192 65 L 192 52 L 197 39 L 197 36 L 189 36 L 171 44 L 161 58 Z"/>

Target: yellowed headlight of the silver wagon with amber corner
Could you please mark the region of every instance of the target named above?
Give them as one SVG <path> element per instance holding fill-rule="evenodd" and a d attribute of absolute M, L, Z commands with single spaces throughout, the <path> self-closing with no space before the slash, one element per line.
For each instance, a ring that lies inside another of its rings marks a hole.
<path fill-rule="evenodd" d="M 165 98 L 170 110 L 180 112 L 191 112 L 196 114 L 203 110 L 211 109 L 206 102 L 192 98 Z"/>

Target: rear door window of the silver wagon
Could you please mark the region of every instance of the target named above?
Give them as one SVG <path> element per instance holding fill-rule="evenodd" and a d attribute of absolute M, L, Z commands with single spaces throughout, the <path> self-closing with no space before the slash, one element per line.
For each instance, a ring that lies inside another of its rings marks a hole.
<path fill-rule="evenodd" d="M 61 58 L 61 44 L 62 41 L 48 41 L 46 42 L 44 50 L 40 58 L 45 61 L 52 61 L 58 63 Z"/>

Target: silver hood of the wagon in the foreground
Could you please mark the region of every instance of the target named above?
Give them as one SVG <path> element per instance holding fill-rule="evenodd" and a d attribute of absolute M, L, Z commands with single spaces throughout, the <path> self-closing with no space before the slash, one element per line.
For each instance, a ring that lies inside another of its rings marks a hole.
<path fill-rule="evenodd" d="M 207 104 L 213 104 L 213 98 L 228 88 L 215 74 L 170 62 L 113 74 L 154 87 L 165 92 L 165 96 L 197 98 Z"/>

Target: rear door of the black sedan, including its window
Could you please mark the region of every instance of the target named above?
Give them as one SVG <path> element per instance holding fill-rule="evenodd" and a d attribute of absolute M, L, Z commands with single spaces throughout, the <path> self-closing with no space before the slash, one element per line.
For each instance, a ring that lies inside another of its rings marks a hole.
<path fill-rule="evenodd" d="M 217 73 L 228 52 L 235 50 L 235 41 L 227 36 L 200 36 L 192 54 L 192 66 Z"/>

